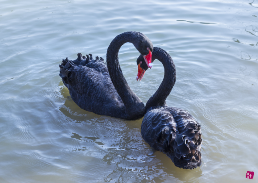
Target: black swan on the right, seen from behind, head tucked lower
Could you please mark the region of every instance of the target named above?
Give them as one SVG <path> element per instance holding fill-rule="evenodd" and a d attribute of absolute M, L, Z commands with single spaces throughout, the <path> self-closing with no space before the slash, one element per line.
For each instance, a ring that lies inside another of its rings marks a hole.
<path fill-rule="evenodd" d="M 164 66 L 164 79 L 146 103 L 141 135 L 152 148 L 169 156 L 177 167 L 197 168 L 202 164 L 201 125 L 189 112 L 166 105 L 166 98 L 176 82 L 176 68 L 170 55 L 161 48 L 154 47 L 152 61 L 155 59 Z M 139 77 L 148 67 L 141 55 L 137 64 Z"/>

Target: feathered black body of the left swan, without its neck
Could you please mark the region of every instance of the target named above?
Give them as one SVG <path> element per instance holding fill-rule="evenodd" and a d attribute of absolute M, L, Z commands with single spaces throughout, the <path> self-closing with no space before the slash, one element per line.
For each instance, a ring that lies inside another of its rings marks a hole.
<path fill-rule="evenodd" d="M 122 118 L 125 116 L 124 104 L 114 88 L 104 60 L 98 56 L 94 60 L 91 54 L 86 56 L 78 53 L 76 60 L 66 58 L 59 65 L 59 75 L 71 98 L 84 110 Z"/>

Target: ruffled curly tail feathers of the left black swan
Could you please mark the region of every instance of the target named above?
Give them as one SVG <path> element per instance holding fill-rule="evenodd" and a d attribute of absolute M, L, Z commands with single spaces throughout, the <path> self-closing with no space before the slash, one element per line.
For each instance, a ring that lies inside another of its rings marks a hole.
<path fill-rule="evenodd" d="M 92 54 L 82 56 L 81 53 L 77 54 L 76 60 L 69 60 L 67 57 L 66 59 L 62 61 L 60 67 L 60 73 L 59 76 L 63 79 L 64 83 L 68 83 L 68 78 L 71 76 L 73 72 L 73 66 L 85 66 L 88 63 L 95 63 L 95 62 L 101 62 L 104 63 L 104 59 L 102 57 L 96 56 L 96 59 L 94 60 L 92 57 Z M 105 63 L 104 63 L 105 64 Z"/>

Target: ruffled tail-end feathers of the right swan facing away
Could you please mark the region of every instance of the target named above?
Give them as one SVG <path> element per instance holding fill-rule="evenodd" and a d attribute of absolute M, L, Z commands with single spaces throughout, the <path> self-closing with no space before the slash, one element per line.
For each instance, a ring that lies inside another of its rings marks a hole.
<path fill-rule="evenodd" d="M 174 144 L 174 156 L 171 157 L 179 168 L 193 169 L 202 164 L 201 160 L 201 126 L 188 123 L 183 131 L 177 133 Z"/>

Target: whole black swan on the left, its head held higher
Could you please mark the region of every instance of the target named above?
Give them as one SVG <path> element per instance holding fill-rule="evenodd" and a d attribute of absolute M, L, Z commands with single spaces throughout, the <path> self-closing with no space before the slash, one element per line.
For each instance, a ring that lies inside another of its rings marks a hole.
<path fill-rule="evenodd" d="M 106 64 L 78 53 L 76 60 L 63 60 L 60 77 L 69 89 L 71 98 L 82 109 L 95 114 L 122 119 L 139 119 L 144 116 L 145 107 L 139 97 L 130 89 L 119 65 L 118 52 L 127 42 L 134 44 L 151 68 L 152 42 L 140 32 L 124 32 L 110 43 Z"/>

